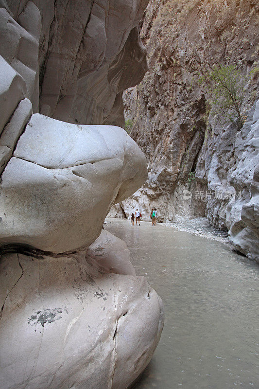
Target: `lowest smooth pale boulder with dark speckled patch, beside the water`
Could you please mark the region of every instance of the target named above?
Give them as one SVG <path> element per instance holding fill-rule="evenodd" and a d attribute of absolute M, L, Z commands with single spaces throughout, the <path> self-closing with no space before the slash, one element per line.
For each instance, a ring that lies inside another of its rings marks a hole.
<path fill-rule="evenodd" d="M 164 314 L 144 277 L 104 272 L 87 251 L 1 264 L 1 389 L 125 389 L 147 366 Z"/>

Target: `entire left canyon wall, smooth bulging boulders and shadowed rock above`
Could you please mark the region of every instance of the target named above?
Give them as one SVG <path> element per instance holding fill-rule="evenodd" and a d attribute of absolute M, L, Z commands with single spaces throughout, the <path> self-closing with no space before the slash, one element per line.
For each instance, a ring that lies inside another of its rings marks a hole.
<path fill-rule="evenodd" d="M 125 389 L 159 341 L 160 298 L 102 230 L 147 177 L 109 125 L 146 70 L 145 6 L 0 0 L 1 389 Z"/>

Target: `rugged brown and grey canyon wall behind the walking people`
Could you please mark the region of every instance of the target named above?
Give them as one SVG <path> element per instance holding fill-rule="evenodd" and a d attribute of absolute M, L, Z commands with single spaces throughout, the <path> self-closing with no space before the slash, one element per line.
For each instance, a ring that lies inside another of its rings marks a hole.
<path fill-rule="evenodd" d="M 258 130 L 248 111 L 258 99 L 258 11 L 252 0 L 149 3 L 140 33 L 149 71 L 124 92 L 125 118 L 147 156 L 148 179 L 121 203 L 127 216 L 140 208 L 145 220 L 154 207 L 164 222 L 207 216 L 254 259 Z M 254 70 L 245 86 L 244 114 L 250 119 L 241 131 L 212 116 L 207 90 L 198 82 L 199 74 L 219 63 L 234 64 L 243 74 Z M 230 202 L 234 195 L 237 201 Z M 121 214 L 118 207 L 116 212 Z"/>

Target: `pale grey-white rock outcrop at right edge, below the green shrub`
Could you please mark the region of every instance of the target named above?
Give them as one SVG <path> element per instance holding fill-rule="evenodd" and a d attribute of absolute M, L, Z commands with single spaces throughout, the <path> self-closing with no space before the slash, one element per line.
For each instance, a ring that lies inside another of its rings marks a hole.
<path fill-rule="evenodd" d="M 235 189 L 226 208 L 228 235 L 241 252 L 259 263 L 259 100 L 235 139 Z M 238 195 L 240 194 L 240 195 Z"/>

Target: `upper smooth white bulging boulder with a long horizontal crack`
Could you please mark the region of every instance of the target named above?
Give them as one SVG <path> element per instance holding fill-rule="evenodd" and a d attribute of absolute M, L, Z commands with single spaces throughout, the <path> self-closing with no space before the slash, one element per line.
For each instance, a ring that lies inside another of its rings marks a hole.
<path fill-rule="evenodd" d="M 34 114 L 2 174 L 0 243 L 53 253 L 86 248 L 110 207 L 146 176 L 144 154 L 120 127 Z"/>

